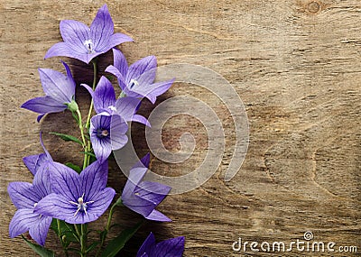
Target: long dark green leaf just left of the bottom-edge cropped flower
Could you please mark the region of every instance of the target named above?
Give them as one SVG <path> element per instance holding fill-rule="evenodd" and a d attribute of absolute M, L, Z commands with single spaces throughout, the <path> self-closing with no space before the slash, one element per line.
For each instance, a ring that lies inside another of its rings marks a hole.
<path fill-rule="evenodd" d="M 129 239 L 137 232 L 137 230 L 143 225 L 143 221 L 134 225 L 132 228 L 127 228 L 122 231 L 115 239 L 110 241 L 106 245 L 106 248 L 101 254 L 101 257 L 114 257 L 116 253 L 123 249 L 125 243 L 128 242 Z"/>

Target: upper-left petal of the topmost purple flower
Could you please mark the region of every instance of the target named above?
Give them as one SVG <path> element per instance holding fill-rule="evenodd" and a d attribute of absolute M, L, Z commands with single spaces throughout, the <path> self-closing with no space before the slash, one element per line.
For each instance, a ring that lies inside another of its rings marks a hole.
<path fill-rule="evenodd" d="M 90 29 L 84 23 L 73 20 L 60 22 L 61 37 L 76 54 L 87 54 L 86 41 L 91 40 Z M 94 42 L 93 42 L 94 43 Z"/>

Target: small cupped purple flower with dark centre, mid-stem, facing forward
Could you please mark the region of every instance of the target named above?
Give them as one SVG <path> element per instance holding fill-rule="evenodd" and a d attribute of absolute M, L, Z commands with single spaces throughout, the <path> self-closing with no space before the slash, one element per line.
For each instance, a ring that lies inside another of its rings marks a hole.
<path fill-rule="evenodd" d="M 120 115 L 95 115 L 90 120 L 90 141 L 97 161 L 104 162 L 110 153 L 128 142 L 128 125 Z"/>

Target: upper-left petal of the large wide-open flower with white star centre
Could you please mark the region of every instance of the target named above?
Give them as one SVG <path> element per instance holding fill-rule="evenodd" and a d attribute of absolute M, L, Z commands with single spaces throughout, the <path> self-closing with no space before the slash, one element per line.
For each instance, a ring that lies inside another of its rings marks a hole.
<path fill-rule="evenodd" d="M 68 201 L 77 201 L 83 195 L 80 191 L 79 174 L 77 171 L 59 163 L 49 164 L 51 187 L 54 193 L 67 197 Z"/>

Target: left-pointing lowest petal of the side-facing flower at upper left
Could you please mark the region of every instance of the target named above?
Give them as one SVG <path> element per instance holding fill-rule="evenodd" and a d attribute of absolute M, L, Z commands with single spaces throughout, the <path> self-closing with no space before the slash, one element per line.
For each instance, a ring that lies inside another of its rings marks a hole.
<path fill-rule="evenodd" d="M 28 109 L 38 114 L 59 113 L 67 108 L 67 106 L 60 104 L 57 100 L 50 96 L 36 97 L 23 103 L 22 108 Z"/>

